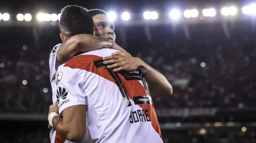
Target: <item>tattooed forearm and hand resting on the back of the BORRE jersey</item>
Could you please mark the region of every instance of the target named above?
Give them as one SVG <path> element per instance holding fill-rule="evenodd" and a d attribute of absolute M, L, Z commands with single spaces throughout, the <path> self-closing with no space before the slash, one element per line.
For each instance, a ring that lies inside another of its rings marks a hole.
<path fill-rule="evenodd" d="M 149 92 L 153 96 L 172 95 L 172 86 L 166 77 L 157 70 L 150 67 L 139 58 L 132 57 L 126 53 L 116 52 L 109 57 L 104 57 L 104 64 L 109 64 L 107 68 L 114 72 L 136 71 L 142 73 L 149 84 Z"/>

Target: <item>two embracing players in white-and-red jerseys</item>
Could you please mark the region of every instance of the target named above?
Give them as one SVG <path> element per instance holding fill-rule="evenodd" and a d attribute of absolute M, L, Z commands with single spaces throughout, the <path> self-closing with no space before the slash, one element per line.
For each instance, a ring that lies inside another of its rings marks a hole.
<path fill-rule="evenodd" d="M 150 96 L 172 95 L 164 75 L 115 44 L 107 13 L 66 6 L 49 60 L 51 142 L 162 142 Z"/>

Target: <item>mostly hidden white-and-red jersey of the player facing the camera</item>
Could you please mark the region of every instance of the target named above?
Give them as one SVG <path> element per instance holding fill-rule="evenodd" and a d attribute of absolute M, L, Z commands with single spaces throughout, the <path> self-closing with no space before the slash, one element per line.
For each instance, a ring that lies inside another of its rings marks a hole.
<path fill-rule="evenodd" d="M 51 82 L 51 86 L 52 86 L 52 102 L 53 102 L 53 104 L 57 101 L 57 99 L 56 99 L 56 81 L 55 81 L 55 77 L 56 77 L 55 61 L 56 61 L 56 53 L 57 53 L 57 50 L 59 49 L 60 45 L 61 44 L 57 44 L 53 47 L 51 54 L 50 54 L 50 59 L 49 59 L 50 82 Z M 72 143 L 72 141 L 63 139 L 59 134 L 56 133 L 54 128 L 51 129 L 50 140 L 51 140 L 51 143 Z M 92 142 L 89 133 L 86 134 L 83 142 L 86 142 L 86 143 Z"/>

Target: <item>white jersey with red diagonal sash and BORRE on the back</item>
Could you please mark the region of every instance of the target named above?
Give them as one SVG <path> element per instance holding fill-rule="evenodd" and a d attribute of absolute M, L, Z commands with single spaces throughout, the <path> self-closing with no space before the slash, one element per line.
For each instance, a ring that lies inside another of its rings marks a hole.
<path fill-rule="evenodd" d="M 162 143 L 146 81 L 138 72 L 116 73 L 102 63 L 102 57 L 115 51 L 89 51 L 59 67 L 60 114 L 68 107 L 85 105 L 88 132 L 96 143 Z"/>

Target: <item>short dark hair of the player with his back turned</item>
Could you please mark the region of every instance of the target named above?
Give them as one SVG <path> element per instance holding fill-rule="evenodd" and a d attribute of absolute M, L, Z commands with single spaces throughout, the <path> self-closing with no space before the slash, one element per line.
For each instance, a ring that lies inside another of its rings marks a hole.
<path fill-rule="evenodd" d="M 67 37 L 94 34 L 94 21 L 87 9 L 76 5 L 65 6 L 61 10 L 60 30 Z"/>

